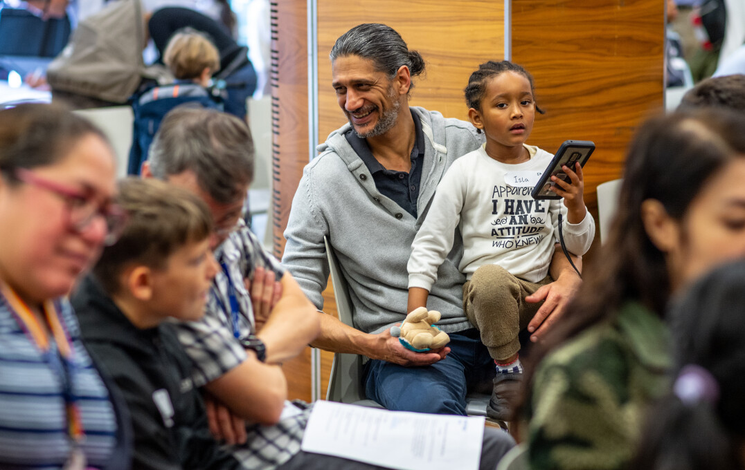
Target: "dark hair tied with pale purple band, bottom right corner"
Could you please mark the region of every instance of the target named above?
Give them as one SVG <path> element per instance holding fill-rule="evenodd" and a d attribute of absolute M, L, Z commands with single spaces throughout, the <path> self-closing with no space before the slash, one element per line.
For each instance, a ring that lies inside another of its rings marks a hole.
<path fill-rule="evenodd" d="M 744 469 L 745 263 L 724 265 L 673 304 L 673 391 L 653 408 L 632 469 Z"/>

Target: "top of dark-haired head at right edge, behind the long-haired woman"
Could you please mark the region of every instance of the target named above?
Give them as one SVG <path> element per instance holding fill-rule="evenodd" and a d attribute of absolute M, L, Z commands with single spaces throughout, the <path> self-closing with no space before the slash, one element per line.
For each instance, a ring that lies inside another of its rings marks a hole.
<path fill-rule="evenodd" d="M 745 75 L 726 75 L 702 80 L 697 86 L 685 92 L 678 109 L 704 106 L 742 112 L 745 109 Z"/>

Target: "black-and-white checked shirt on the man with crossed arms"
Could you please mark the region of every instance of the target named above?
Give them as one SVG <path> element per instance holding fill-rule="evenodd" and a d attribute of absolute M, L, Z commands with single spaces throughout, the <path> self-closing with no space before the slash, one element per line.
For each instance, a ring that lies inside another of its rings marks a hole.
<path fill-rule="evenodd" d="M 243 338 L 254 332 L 253 306 L 244 279 L 253 279 L 259 266 L 274 271 L 278 280 L 285 274 L 285 268 L 264 251 L 244 222 L 241 220 L 239 223 L 238 230 L 215 251 L 215 258 L 223 269 L 212 282 L 206 315 L 200 321 L 177 323 L 179 340 L 194 361 L 192 379 L 197 387 L 218 379 L 246 359 L 246 352 L 236 338 L 230 312 L 231 284 L 241 313 L 236 325 L 238 337 Z M 288 403 L 287 406 L 294 405 Z M 233 446 L 230 451 L 244 469 L 276 469 L 300 450 L 309 414 L 310 409 L 303 410 L 294 416 L 283 417 L 273 426 L 249 425 L 247 443 Z"/>

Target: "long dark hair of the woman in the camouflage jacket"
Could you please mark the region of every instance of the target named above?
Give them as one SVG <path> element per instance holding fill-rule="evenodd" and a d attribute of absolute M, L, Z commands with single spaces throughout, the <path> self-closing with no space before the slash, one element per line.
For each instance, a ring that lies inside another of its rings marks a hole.
<path fill-rule="evenodd" d="M 618 213 L 601 248 L 603 263 L 593 266 L 571 303 L 577 315 L 557 327 L 558 336 L 615 318 L 630 299 L 662 315 L 671 294 L 668 264 L 647 234 L 641 206 L 656 199 L 671 218 L 684 220 L 717 171 L 744 157 L 742 129 L 745 116 L 712 109 L 676 112 L 639 126 L 627 150 Z"/>

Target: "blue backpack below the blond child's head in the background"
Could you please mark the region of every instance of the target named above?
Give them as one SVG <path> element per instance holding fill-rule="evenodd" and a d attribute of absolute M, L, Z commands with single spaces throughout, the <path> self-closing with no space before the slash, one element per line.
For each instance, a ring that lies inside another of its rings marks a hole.
<path fill-rule="evenodd" d="M 223 110 L 221 97 L 197 83 L 172 83 L 142 92 L 132 101 L 134 120 L 127 174 L 139 175 L 160 122 L 180 106 Z"/>

